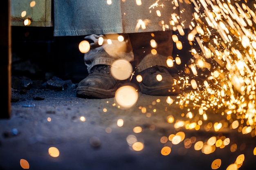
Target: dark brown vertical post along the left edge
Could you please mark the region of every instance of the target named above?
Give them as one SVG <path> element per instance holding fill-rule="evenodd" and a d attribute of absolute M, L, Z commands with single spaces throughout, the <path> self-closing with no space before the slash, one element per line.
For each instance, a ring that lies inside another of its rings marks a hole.
<path fill-rule="evenodd" d="M 11 117 L 11 20 L 10 0 L 0 6 L 0 119 Z"/>

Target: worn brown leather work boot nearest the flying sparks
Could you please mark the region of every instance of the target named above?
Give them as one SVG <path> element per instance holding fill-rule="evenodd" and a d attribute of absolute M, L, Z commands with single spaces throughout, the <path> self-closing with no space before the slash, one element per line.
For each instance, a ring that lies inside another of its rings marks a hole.
<path fill-rule="evenodd" d="M 139 82 L 141 93 L 146 95 L 170 96 L 178 95 L 180 87 L 164 66 L 153 66 L 138 73 L 142 76 Z"/>

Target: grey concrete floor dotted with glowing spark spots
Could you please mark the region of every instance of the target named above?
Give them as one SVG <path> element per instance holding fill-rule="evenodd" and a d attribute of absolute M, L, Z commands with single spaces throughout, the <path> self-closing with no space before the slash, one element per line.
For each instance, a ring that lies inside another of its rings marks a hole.
<path fill-rule="evenodd" d="M 114 98 L 77 98 L 74 88 L 31 89 L 20 97 L 19 102 L 11 103 L 11 119 L 0 120 L 0 170 L 22 169 L 21 159 L 25 159 L 32 170 L 211 170 L 216 159 L 221 160 L 220 170 L 234 170 L 237 168 L 229 165 L 241 154 L 245 160 L 239 170 L 256 169 L 253 153 L 256 138 L 250 133 L 243 135 L 229 126 L 218 132 L 213 127 L 204 128 L 209 122 L 228 123 L 221 109 L 209 108 L 208 120 L 203 121 L 193 101 L 181 108 L 175 104 L 180 101 L 177 97 L 171 97 L 173 104 L 167 104 L 167 97 L 139 93 L 137 103 L 129 109 L 118 108 Z M 182 117 L 189 109 L 194 117 Z M 173 123 L 167 122 L 169 115 L 174 117 Z M 85 121 L 81 121 L 81 117 L 85 117 Z M 119 119 L 124 121 L 123 126 L 117 125 Z M 202 120 L 202 125 L 199 130 L 174 128 L 178 120 Z M 142 128 L 139 133 L 133 130 L 137 126 Z M 166 140 L 177 132 L 184 132 L 183 141 L 172 144 Z M 130 135 L 134 136 L 128 139 Z M 229 138 L 230 143 L 224 148 L 216 147 L 210 154 L 195 150 L 198 141 L 206 143 L 211 137 L 222 141 Z M 142 150 L 132 149 L 134 139 L 143 144 Z M 186 139 L 191 139 L 190 147 L 186 147 Z M 232 150 L 234 144 L 237 149 Z M 164 146 L 171 148 L 166 156 L 161 154 Z M 51 147 L 58 149 L 58 157 L 49 154 Z"/>

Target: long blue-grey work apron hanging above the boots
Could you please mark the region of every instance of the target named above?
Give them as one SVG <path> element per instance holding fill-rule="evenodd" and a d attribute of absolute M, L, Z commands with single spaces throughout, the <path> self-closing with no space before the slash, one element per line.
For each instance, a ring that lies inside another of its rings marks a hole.
<path fill-rule="evenodd" d="M 166 26 L 189 28 L 193 21 L 194 8 L 189 1 L 108 1 L 54 0 L 54 36 L 164 31 Z M 143 20 L 146 28 L 138 26 L 138 20 Z"/>

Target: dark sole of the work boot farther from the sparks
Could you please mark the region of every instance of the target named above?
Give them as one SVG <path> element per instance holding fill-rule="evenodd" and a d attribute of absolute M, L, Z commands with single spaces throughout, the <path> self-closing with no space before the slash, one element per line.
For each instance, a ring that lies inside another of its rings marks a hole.
<path fill-rule="evenodd" d="M 115 90 L 102 90 L 99 88 L 80 86 L 76 88 L 76 97 L 85 99 L 106 99 L 115 97 Z"/>

